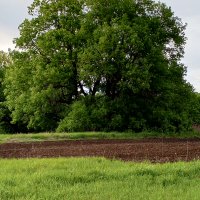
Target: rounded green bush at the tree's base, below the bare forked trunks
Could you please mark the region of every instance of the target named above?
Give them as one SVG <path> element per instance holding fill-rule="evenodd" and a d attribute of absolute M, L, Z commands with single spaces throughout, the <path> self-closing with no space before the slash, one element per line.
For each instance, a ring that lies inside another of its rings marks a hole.
<path fill-rule="evenodd" d="M 58 132 L 102 131 L 107 127 L 106 102 L 100 98 L 84 98 L 74 102 L 66 117 L 61 120 Z"/>

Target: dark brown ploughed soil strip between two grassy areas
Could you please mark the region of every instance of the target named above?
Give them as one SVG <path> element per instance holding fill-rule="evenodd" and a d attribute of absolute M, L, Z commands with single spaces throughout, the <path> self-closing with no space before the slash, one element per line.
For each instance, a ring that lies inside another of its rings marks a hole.
<path fill-rule="evenodd" d="M 77 140 L 0 145 L 1 158 L 72 156 L 103 156 L 125 161 L 189 161 L 200 158 L 200 139 Z"/>

